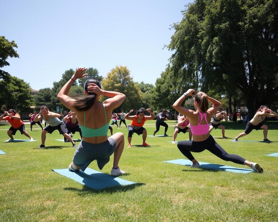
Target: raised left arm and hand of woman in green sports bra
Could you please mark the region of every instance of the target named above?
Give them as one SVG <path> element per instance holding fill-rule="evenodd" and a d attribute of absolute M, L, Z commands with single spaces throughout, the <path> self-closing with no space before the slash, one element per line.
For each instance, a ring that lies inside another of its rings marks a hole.
<path fill-rule="evenodd" d="M 73 74 L 73 76 L 69 79 L 69 81 L 67 81 L 67 83 L 61 88 L 60 92 L 57 95 L 57 98 L 61 101 L 61 103 L 69 108 L 69 109 L 73 109 L 70 106 L 70 102 L 71 101 L 75 101 L 74 99 L 72 99 L 71 97 L 69 97 L 67 94 L 69 93 L 70 88 L 72 87 L 72 84 L 80 78 L 83 78 L 84 76 L 88 75 L 83 74 L 83 72 L 86 70 L 86 68 L 78 68 L 76 69 L 75 73 Z"/>

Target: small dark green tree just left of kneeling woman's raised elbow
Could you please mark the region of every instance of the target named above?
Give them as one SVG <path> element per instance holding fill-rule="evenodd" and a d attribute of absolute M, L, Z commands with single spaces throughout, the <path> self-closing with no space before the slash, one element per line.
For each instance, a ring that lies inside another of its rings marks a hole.
<path fill-rule="evenodd" d="M 53 90 L 50 88 L 40 89 L 35 95 L 35 106 L 46 105 L 49 110 L 56 111 L 56 106 L 52 102 Z"/>

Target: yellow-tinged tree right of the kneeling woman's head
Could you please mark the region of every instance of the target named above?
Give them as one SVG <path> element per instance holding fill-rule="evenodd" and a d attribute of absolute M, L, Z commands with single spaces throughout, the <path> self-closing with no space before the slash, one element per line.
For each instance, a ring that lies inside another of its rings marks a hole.
<path fill-rule="evenodd" d="M 122 92 L 126 95 L 125 101 L 117 108 L 117 112 L 140 108 L 142 92 L 138 84 L 133 82 L 127 66 L 116 66 L 111 69 L 101 84 L 104 90 Z"/>

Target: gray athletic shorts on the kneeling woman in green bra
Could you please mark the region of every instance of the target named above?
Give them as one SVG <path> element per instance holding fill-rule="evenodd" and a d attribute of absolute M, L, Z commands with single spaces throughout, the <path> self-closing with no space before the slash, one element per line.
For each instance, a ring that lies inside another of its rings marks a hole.
<path fill-rule="evenodd" d="M 87 143 L 82 140 L 74 153 L 72 161 L 74 165 L 79 166 L 84 171 L 91 162 L 96 160 L 98 168 L 101 170 L 109 162 L 115 149 L 116 141 L 112 138 L 98 144 Z"/>

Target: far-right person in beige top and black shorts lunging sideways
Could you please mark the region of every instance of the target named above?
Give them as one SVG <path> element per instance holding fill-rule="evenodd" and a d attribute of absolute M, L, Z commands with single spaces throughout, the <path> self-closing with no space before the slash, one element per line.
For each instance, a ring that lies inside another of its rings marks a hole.
<path fill-rule="evenodd" d="M 276 112 L 273 112 L 272 110 L 268 109 L 268 106 L 261 106 L 255 113 L 253 119 L 251 119 L 247 123 L 245 132 L 240 133 L 237 137 L 235 137 L 234 141 L 237 142 L 238 138 L 240 138 L 242 136 L 246 136 L 253 129 L 256 129 L 256 130 L 264 129 L 264 142 L 270 143 L 271 141 L 268 140 L 268 138 L 267 138 L 268 126 L 262 123 L 262 121 L 265 120 L 266 116 L 273 117 L 273 116 L 278 116 L 278 114 Z"/>

